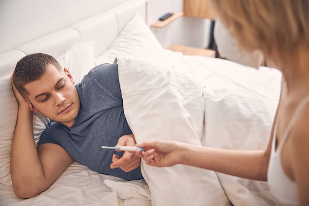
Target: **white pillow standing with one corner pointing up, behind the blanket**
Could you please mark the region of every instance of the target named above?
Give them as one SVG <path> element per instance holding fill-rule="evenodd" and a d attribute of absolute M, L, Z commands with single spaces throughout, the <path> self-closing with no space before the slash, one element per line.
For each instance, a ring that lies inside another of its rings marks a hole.
<path fill-rule="evenodd" d="M 95 65 L 113 63 L 116 56 L 138 57 L 171 67 L 172 61 L 154 34 L 140 17 L 135 14 L 124 27 L 110 48 L 95 59 Z"/>

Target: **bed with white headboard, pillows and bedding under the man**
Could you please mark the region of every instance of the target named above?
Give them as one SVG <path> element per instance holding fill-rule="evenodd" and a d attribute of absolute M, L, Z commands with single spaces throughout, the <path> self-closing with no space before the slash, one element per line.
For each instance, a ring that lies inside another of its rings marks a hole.
<path fill-rule="evenodd" d="M 280 72 L 164 49 L 145 24 L 145 0 L 102 1 L 94 15 L 48 28 L 0 54 L 0 205 L 275 206 L 266 182 L 185 165 L 155 168 L 143 161 L 143 180 L 125 181 L 75 162 L 40 195 L 14 194 L 9 159 L 18 105 L 9 77 L 20 58 L 35 52 L 53 55 L 77 82 L 96 65 L 117 63 L 125 115 L 137 143 L 169 139 L 235 150 L 267 145 Z M 38 143 L 49 120 L 35 114 L 33 122 Z"/>

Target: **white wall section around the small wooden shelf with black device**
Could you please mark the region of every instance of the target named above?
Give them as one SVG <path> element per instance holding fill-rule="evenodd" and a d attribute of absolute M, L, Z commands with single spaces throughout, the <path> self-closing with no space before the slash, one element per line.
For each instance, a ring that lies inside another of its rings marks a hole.
<path fill-rule="evenodd" d="M 183 0 L 148 0 L 147 24 L 151 26 L 168 12 L 182 12 Z M 182 44 L 205 48 L 209 44 L 210 20 L 180 17 L 164 28 L 152 28 L 154 35 L 163 47 Z"/>

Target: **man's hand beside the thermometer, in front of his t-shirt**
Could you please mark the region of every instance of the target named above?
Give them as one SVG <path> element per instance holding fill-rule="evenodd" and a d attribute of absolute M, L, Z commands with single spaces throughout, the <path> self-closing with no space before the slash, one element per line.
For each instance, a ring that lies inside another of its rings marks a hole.
<path fill-rule="evenodd" d="M 118 139 L 116 147 L 119 146 L 135 146 L 135 138 L 133 134 L 124 135 Z M 118 151 L 118 150 L 117 150 Z M 141 158 L 137 157 L 135 153 L 124 152 L 123 156 L 120 158 L 118 155 L 113 155 L 113 164 L 111 168 L 120 167 L 123 171 L 129 172 L 141 164 Z"/>

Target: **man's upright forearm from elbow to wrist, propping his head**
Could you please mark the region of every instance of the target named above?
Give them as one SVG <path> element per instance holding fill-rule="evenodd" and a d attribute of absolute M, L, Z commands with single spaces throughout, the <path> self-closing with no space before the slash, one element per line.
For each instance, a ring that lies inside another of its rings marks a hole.
<path fill-rule="evenodd" d="M 32 119 L 33 113 L 29 109 L 18 110 L 10 169 L 14 191 L 21 198 L 29 197 L 26 191 L 43 190 L 37 185 L 38 180 L 44 177 L 44 172 L 34 140 Z"/>

